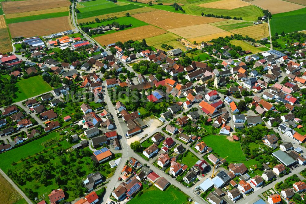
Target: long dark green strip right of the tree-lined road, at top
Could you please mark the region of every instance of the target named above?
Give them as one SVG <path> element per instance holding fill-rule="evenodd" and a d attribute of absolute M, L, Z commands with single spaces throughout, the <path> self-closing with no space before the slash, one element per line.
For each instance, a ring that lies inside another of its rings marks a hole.
<path fill-rule="evenodd" d="M 120 12 L 120 11 L 127 11 L 131 9 L 138 9 L 141 6 L 135 5 L 135 4 L 128 4 L 125 6 L 116 6 L 111 9 L 99 9 L 99 10 L 94 10 L 94 11 L 88 11 L 84 13 L 78 13 L 77 18 L 88 18 L 92 16 L 99 16 L 99 15 L 104 15 L 108 13 L 115 13 L 115 12 Z M 86 7 L 85 7 L 86 8 Z"/>

